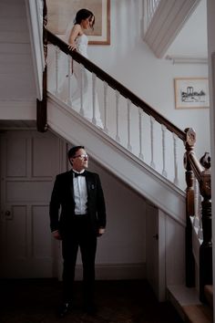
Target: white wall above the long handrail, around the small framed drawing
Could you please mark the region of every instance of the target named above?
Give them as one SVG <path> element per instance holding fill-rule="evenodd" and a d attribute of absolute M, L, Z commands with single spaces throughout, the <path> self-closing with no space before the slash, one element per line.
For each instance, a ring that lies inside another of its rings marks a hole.
<path fill-rule="evenodd" d="M 200 157 L 210 151 L 209 109 L 175 109 L 174 78 L 208 77 L 208 66 L 156 58 L 140 37 L 141 18 L 141 0 L 111 0 L 111 45 L 89 47 L 89 57 L 181 130 L 194 128 Z"/>

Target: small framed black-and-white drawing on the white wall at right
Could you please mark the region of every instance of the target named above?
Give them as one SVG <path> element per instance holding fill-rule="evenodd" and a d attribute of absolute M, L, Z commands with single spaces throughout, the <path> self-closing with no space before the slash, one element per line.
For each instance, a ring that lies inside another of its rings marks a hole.
<path fill-rule="evenodd" d="M 208 78 L 174 78 L 174 89 L 176 109 L 210 107 Z"/>

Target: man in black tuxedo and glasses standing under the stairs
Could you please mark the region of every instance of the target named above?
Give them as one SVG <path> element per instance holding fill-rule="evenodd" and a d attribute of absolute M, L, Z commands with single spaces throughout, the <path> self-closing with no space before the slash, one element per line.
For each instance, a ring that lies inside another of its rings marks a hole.
<path fill-rule="evenodd" d="M 50 226 L 54 237 L 62 240 L 64 317 L 73 305 L 73 283 L 80 248 L 83 263 L 84 306 L 94 311 L 95 257 L 97 236 L 105 233 L 106 206 L 99 176 L 88 172 L 88 155 L 84 146 L 68 151 L 72 165 L 69 172 L 56 175 L 50 201 Z M 60 214 L 59 214 L 60 210 Z"/>

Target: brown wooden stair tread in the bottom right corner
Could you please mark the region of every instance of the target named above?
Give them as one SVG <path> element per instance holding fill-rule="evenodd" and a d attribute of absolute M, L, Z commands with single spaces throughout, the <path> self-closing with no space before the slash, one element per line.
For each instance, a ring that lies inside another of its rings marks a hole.
<path fill-rule="evenodd" d="M 182 307 L 187 322 L 190 323 L 212 323 L 213 315 L 210 307 L 197 304 L 197 305 L 186 305 Z"/>

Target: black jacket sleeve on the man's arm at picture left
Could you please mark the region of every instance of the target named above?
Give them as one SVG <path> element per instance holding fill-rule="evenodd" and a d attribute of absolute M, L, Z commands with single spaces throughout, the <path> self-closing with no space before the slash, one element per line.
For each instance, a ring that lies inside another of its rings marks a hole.
<path fill-rule="evenodd" d="M 49 216 L 51 231 L 58 230 L 59 227 L 59 208 L 60 208 L 60 181 L 58 175 L 54 183 L 51 194 L 51 201 L 49 203 Z"/>

